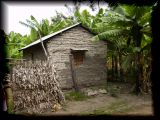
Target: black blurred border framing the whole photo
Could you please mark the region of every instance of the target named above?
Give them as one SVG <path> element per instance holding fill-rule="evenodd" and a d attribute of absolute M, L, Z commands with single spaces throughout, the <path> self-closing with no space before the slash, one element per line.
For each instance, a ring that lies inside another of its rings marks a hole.
<path fill-rule="evenodd" d="M 1 1 L 0 3 L 0 9 L 1 9 L 1 28 L 3 25 L 3 16 L 4 16 L 4 7 L 2 5 L 2 2 L 7 2 L 6 1 Z M 90 0 L 91 1 L 91 0 Z M 157 4 L 153 8 L 152 12 L 152 32 L 153 32 L 153 42 L 151 44 L 151 53 L 152 53 L 152 72 L 151 72 L 151 80 L 152 80 L 152 99 L 153 99 L 153 109 L 154 109 L 154 116 L 127 116 L 127 115 L 99 115 L 99 116 L 33 116 L 33 115 L 14 115 L 14 114 L 7 114 L 6 112 L 1 112 L 0 116 L 5 119 L 123 119 L 123 120 L 135 120 L 135 119 L 158 119 L 160 117 L 160 92 L 159 90 L 159 81 L 160 81 L 160 75 L 158 74 L 160 72 L 160 55 L 158 52 L 160 51 L 160 33 L 158 32 L 158 29 L 160 29 L 160 8 L 159 8 L 159 1 L 158 0 L 105 0 L 109 4 L 117 4 L 117 3 L 124 3 L 124 4 L 135 4 L 138 6 L 143 6 L 143 5 L 154 5 L 155 3 Z M 20 2 L 19 0 L 14 1 L 14 2 Z M 22 1 L 21 1 L 22 2 Z M 39 1 L 23 1 L 23 2 L 39 2 Z M 41 2 L 48 2 L 47 1 L 41 1 Z M 50 1 L 49 1 L 50 2 Z M 54 1 L 55 2 L 55 1 Z M 56 2 L 63 2 L 63 1 L 56 1 Z M 3 30 L 1 30 L 1 40 L 0 40 L 0 80 L 3 80 L 3 75 L 6 71 L 6 61 L 5 61 L 5 50 L 4 50 L 4 39 L 5 37 L 3 36 Z"/>

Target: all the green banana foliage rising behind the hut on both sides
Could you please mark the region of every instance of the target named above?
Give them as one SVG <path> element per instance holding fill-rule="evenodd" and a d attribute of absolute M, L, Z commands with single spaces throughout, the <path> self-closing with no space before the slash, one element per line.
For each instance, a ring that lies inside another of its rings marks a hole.
<path fill-rule="evenodd" d="M 26 20 L 26 23 L 20 22 L 31 28 L 29 36 L 10 33 L 9 42 L 12 41 L 16 44 L 19 42 L 21 45 L 10 46 L 14 50 L 10 50 L 9 55 L 12 57 L 19 56 L 16 51 L 20 47 L 38 39 L 37 30 L 40 31 L 41 36 L 45 36 L 74 24 L 76 18 L 85 28 L 95 34 L 92 38 L 94 41 L 106 40 L 108 42 L 107 57 L 110 61 L 114 62 L 115 59 L 121 57 L 117 65 L 114 63 L 112 67 L 119 66 L 120 70 L 122 69 L 126 74 L 129 74 L 129 72 L 136 73 L 133 72 L 135 71 L 133 66 L 138 66 L 138 64 L 135 64 L 136 55 L 141 53 L 145 61 L 150 62 L 151 8 L 151 6 L 139 7 L 119 4 L 106 11 L 101 8 L 95 16 L 87 10 L 80 12 L 79 9 L 76 9 L 75 16 L 69 17 L 56 12 L 57 14 L 52 17 L 51 22 L 47 19 L 38 22 L 34 16 L 31 16 L 30 20 Z M 138 62 L 140 64 L 140 61 Z M 115 70 L 113 71 L 115 72 Z"/>

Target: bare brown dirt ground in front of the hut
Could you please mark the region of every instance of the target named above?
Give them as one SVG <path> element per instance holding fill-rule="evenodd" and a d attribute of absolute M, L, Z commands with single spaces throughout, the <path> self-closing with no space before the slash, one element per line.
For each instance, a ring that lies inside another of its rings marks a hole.
<path fill-rule="evenodd" d="M 66 101 L 62 110 L 46 112 L 45 114 L 131 114 L 152 115 L 151 96 L 136 96 L 120 94 L 111 97 L 108 94 L 100 94 L 85 101 Z"/>

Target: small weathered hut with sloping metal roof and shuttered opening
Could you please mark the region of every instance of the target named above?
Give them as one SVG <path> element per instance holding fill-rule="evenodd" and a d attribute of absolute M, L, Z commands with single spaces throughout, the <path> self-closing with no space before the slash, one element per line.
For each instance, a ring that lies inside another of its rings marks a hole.
<path fill-rule="evenodd" d="M 106 53 L 104 41 L 93 42 L 94 35 L 81 23 L 42 37 L 42 41 L 59 76 L 62 89 L 106 84 Z M 46 60 L 40 39 L 23 47 L 26 60 Z"/>

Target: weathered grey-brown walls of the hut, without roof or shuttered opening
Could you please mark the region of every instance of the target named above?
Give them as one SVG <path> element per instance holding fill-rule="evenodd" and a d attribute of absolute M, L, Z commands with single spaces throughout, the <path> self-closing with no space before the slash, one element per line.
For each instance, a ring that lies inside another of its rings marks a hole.
<path fill-rule="evenodd" d="M 69 55 L 70 49 L 87 49 L 83 64 L 76 67 L 76 79 L 79 86 L 91 86 L 106 83 L 107 45 L 103 41 L 92 42 L 93 35 L 81 26 L 71 28 L 53 36 L 46 42 L 46 48 L 55 65 L 62 88 L 72 88 L 72 76 Z M 36 45 L 37 46 L 37 45 Z M 35 46 L 33 46 L 34 48 Z M 42 47 L 32 49 L 34 59 L 42 59 Z M 29 53 L 29 49 L 26 53 Z M 25 52 L 24 52 L 25 54 Z M 44 53 L 43 53 L 44 54 Z M 24 55 L 27 56 L 27 55 Z"/>

